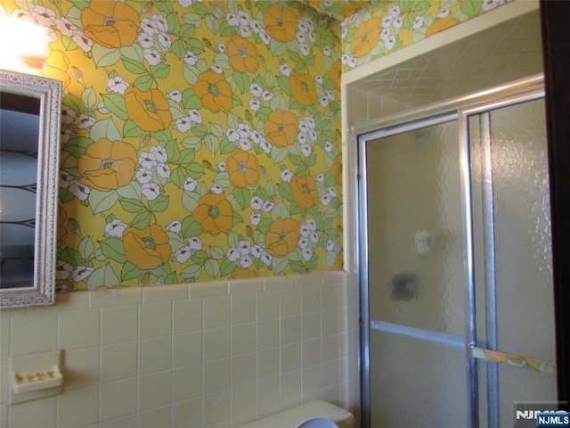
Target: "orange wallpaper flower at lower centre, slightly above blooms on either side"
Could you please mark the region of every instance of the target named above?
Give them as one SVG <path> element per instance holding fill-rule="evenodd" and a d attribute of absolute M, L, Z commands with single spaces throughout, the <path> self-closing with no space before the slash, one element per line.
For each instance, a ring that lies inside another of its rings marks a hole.
<path fill-rule="evenodd" d="M 217 235 L 220 232 L 227 232 L 232 229 L 232 203 L 225 199 L 223 194 L 206 193 L 198 200 L 194 219 L 207 234 Z"/>

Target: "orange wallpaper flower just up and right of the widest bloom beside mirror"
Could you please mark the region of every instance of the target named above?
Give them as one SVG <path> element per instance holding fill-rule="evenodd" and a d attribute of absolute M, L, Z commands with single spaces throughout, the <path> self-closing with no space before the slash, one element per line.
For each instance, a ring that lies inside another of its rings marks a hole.
<path fill-rule="evenodd" d="M 162 131 L 172 122 L 167 98 L 158 89 L 142 92 L 129 86 L 125 91 L 125 103 L 129 119 L 143 131 Z"/>

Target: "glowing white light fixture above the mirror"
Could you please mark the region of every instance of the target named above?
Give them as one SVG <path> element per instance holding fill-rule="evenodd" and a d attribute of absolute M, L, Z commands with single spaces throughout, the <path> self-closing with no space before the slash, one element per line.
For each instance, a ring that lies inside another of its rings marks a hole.
<path fill-rule="evenodd" d="M 30 21 L 0 14 L 0 69 L 41 70 L 47 55 L 47 29 Z"/>

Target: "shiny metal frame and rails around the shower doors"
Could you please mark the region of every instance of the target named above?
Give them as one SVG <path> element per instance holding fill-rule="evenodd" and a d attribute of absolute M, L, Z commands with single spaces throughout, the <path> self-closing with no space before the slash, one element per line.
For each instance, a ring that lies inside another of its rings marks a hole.
<path fill-rule="evenodd" d="M 370 319 L 369 310 L 369 284 L 368 284 L 368 210 L 366 185 L 366 143 L 384 136 L 401 134 L 417 128 L 425 128 L 452 120 L 458 120 L 460 144 L 460 187 L 461 187 L 461 215 L 463 223 L 464 243 L 464 285 L 467 292 L 468 316 L 466 319 L 465 338 L 460 338 L 466 352 L 468 361 L 468 419 L 470 428 L 477 428 L 478 419 L 478 374 L 477 357 L 474 350 L 477 348 L 476 336 L 476 299 L 475 299 L 475 268 L 474 268 L 474 241 L 473 241 L 473 210 L 471 189 L 470 146 L 468 136 L 468 118 L 508 105 L 524 103 L 544 97 L 543 75 L 523 78 L 507 85 L 496 86 L 476 94 L 465 95 L 441 103 L 414 109 L 403 114 L 389 116 L 386 119 L 371 120 L 355 126 L 351 131 L 354 144 L 357 145 L 357 215 L 355 221 L 356 248 L 358 251 L 358 284 L 360 294 L 360 373 L 361 373 L 361 408 L 362 427 L 371 426 L 371 383 L 370 383 L 370 332 L 371 326 L 378 326 L 379 322 Z M 494 280 L 494 278 L 492 278 Z M 380 322 L 381 323 L 381 322 Z M 385 323 L 386 324 L 386 323 Z M 395 333 L 423 337 L 434 342 L 445 342 L 457 345 L 459 336 L 451 334 L 428 332 L 410 327 L 399 328 L 393 325 L 381 325 L 382 328 L 395 329 Z M 496 328 L 496 327 L 495 327 Z M 493 335 L 493 332 L 492 332 Z M 495 374 L 496 375 L 496 374 Z M 493 372 L 491 374 L 493 376 Z M 493 391 L 492 391 L 493 392 Z M 492 393 L 493 395 L 493 393 Z M 490 427 L 498 426 L 498 411 L 490 413 L 494 421 Z M 494 415 L 494 416 L 493 416 Z"/>

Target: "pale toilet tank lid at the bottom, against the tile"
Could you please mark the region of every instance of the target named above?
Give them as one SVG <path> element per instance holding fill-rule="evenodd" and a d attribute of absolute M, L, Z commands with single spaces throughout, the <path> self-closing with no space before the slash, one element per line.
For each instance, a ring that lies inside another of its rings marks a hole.
<path fill-rule="evenodd" d="M 339 428 L 353 428 L 354 416 L 344 408 L 317 399 L 303 406 L 289 408 L 277 415 L 268 416 L 241 428 L 295 428 L 298 424 L 314 417 L 330 419 Z"/>

